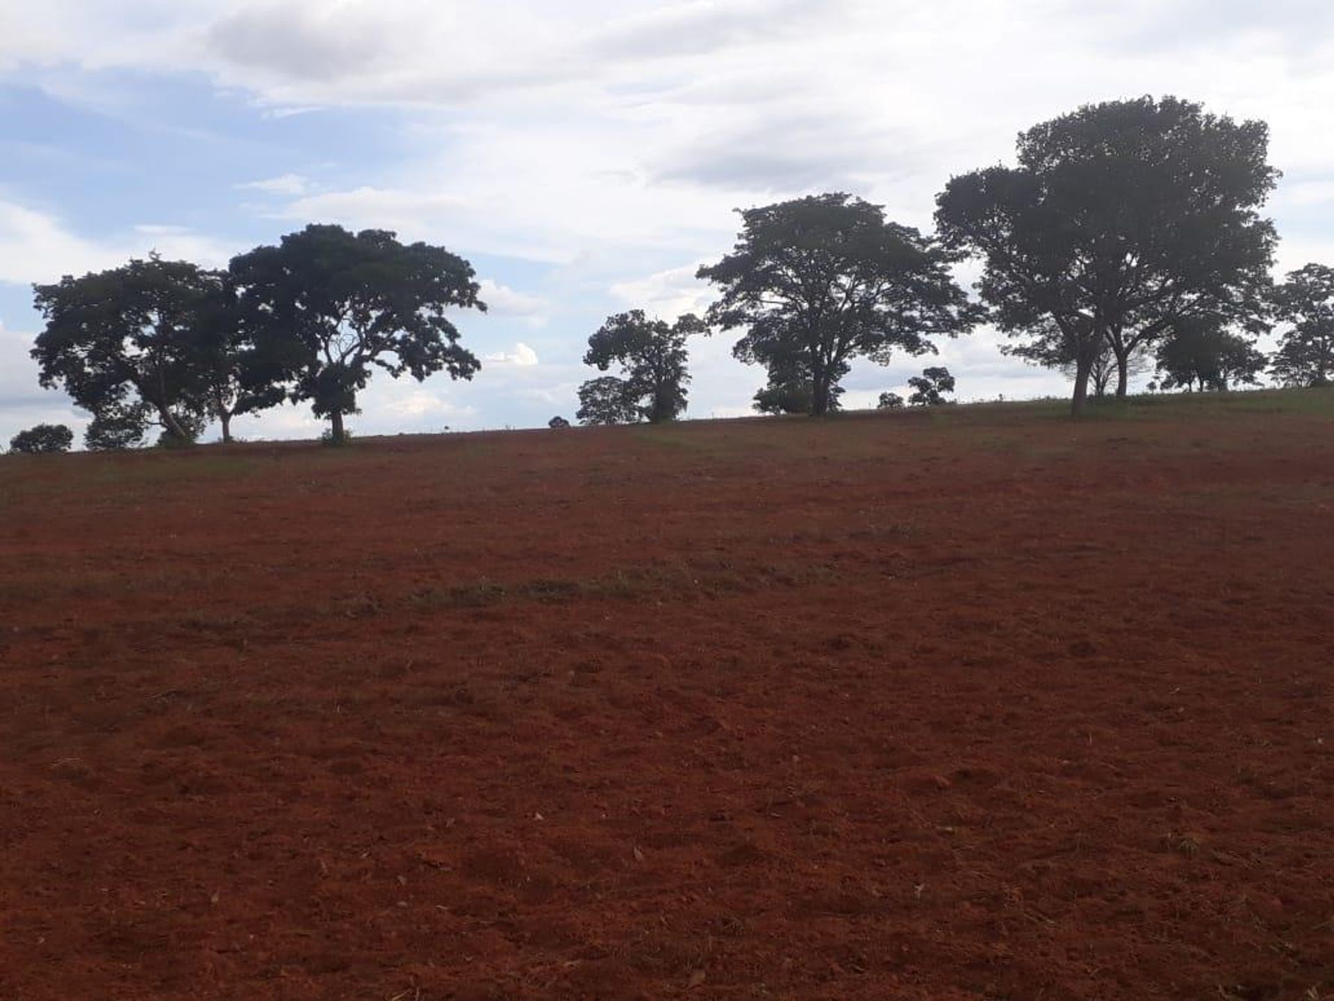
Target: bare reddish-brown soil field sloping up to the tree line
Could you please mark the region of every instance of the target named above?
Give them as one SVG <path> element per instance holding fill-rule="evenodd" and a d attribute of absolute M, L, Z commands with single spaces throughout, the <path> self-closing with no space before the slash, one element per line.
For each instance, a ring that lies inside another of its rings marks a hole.
<path fill-rule="evenodd" d="M 1331 997 L 1331 513 L 1205 407 L 0 460 L 0 997 Z"/>

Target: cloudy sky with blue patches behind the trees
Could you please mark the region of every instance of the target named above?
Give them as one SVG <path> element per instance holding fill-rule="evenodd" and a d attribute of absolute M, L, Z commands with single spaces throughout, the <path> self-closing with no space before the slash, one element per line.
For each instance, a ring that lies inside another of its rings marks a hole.
<path fill-rule="evenodd" d="M 308 222 L 443 244 L 492 307 L 460 324 L 472 383 L 380 375 L 356 431 L 572 416 L 588 334 L 706 306 L 732 210 L 846 190 L 928 228 L 1021 129 L 1142 93 L 1269 121 L 1281 268 L 1334 262 L 1329 0 L 0 0 L 0 440 L 83 424 L 37 387 L 32 282 L 152 248 L 221 266 Z M 964 399 L 1065 392 L 986 331 L 942 358 Z M 844 400 L 924 363 L 859 366 Z M 692 371 L 691 416 L 764 380 L 723 336 Z"/>

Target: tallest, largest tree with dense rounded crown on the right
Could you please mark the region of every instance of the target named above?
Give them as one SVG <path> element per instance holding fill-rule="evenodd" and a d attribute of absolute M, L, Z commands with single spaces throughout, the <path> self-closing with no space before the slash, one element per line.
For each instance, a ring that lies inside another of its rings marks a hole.
<path fill-rule="evenodd" d="M 1278 172 L 1269 127 L 1177 97 L 1089 104 L 1019 136 L 1018 168 L 952 178 L 946 246 L 980 256 L 978 288 L 1011 336 L 1073 362 L 1082 412 L 1103 346 L 1130 358 L 1187 316 L 1263 328 L 1277 236 L 1258 215 Z"/>

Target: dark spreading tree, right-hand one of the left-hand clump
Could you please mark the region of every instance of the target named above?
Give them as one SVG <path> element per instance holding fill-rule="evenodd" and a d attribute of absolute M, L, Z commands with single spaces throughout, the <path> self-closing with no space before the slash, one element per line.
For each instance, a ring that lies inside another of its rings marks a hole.
<path fill-rule="evenodd" d="M 233 258 L 229 272 L 247 320 L 292 362 L 289 399 L 328 418 L 335 442 L 374 368 L 422 382 L 439 371 L 471 379 L 482 367 L 447 314 L 486 304 L 472 266 L 443 247 L 307 226 Z"/>

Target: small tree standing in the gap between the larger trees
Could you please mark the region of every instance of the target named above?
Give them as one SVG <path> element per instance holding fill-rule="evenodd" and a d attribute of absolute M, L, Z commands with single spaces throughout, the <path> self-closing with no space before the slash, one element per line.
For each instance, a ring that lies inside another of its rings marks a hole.
<path fill-rule="evenodd" d="M 652 424 L 675 420 L 686 410 L 686 386 L 690 383 L 686 338 L 703 331 L 704 324 L 692 314 L 671 324 L 648 319 L 643 310 L 616 314 L 588 338 L 584 364 L 603 372 L 614 363 L 619 364 L 622 396 L 635 402 L 639 416 Z"/>

